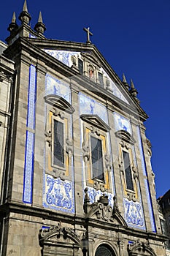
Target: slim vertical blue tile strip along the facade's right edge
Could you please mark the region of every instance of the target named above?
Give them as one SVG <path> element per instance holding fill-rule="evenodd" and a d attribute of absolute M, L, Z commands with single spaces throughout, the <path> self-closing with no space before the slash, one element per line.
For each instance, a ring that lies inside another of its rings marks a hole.
<path fill-rule="evenodd" d="M 148 180 L 147 180 L 147 168 L 146 168 L 146 164 L 144 162 L 144 151 L 143 151 L 143 147 L 142 147 L 141 132 L 140 132 L 139 126 L 136 126 L 136 129 L 137 129 L 137 135 L 138 135 L 139 151 L 140 151 L 140 156 L 141 156 L 140 159 L 142 161 L 142 170 L 143 170 L 143 175 L 144 175 L 144 186 L 145 186 L 146 195 L 147 195 L 147 205 L 148 205 L 148 210 L 149 210 L 149 214 L 150 214 L 150 223 L 152 226 L 152 231 L 156 232 L 155 219 L 154 219 L 153 209 L 152 209 L 152 200 L 151 200 L 150 189 L 149 189 L 149 184 L 148 184 Z"/>

